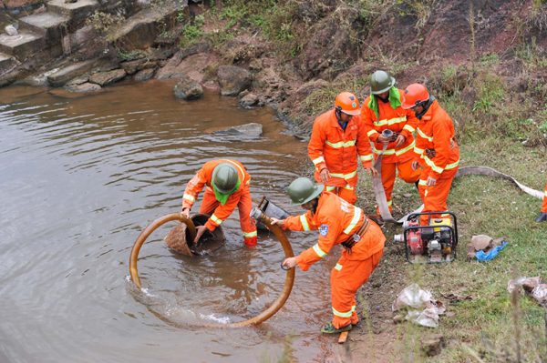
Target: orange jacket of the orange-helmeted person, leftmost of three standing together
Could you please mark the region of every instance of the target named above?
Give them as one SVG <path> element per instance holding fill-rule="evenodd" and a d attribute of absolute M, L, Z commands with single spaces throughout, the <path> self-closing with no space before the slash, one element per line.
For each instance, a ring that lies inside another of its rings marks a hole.
<path fill-rule="evenodd" d="M 314 121 L 308 156 L 315 164 L 315 179 L 328 168 L 331 187 L 354 187 L 357 184 L 357 154 L 363 167 L 372 166 L 372 148 L 361 116 L 353 116 L 347 123 L 346 132 L 338 125 L 335 110 L 325 112 Z"/>

